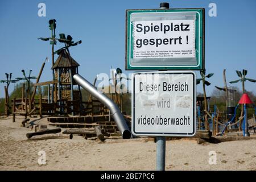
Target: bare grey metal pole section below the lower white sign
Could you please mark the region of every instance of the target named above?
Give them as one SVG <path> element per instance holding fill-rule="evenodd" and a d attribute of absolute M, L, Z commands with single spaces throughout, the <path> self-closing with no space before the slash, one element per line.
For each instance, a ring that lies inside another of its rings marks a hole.
<path fill-rule="evenodd" d="M 156 137 L 156 170 L 166 168 L 166 137 Z"/>

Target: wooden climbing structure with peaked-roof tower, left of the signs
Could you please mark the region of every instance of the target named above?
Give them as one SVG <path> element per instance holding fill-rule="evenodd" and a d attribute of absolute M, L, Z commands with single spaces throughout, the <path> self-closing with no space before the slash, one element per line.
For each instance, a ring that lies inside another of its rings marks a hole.
<path fill-rule="evenodd" d="M 71 57 L 69 47 L 77 46 L 79 42 L 74 43 L 70 35 L 65 37 L 65 34 L 60 34 L 60 38 L 57 39 L 55 35 L 56 20 L 49 20 L 49 27 L 52 32 L 50 38 L 39 38 L 40 40 L 48 41 L 52 45 L 52 80 L 39 82 L 40 77 L 43 74 L 44 65 L 42 64 L 39 71 L 39 75 L 36 78 L 36 82 L 32 85 L 33 89 L 30 90 L 30 86 L 25 83 L 22 84 L 22 97 L 14 98 L 10 102 L 11 108 L 9 108 L 9 94 L 6 90 L 6 114 L 9 115 L 9 110 L 13 115 L 13 122 L 15 122 L 16 115 L 24 116 L 23 126 L 29 120 L 28 117 L 32 115 L 39 115 L 40 118 L 47 117 L 50 126 L 65 127 L 65 128 L 84 128 L 85 134 L 92 135 L 92 132 L 87 130 L 94 130 L 94 128 L 100 126 L 102 132 L 115 135 L 120 135 L 117 125 L 112 118 L 112 114 L 108 107 L 92 97 L 90 94 L 88 101 L 82 100 L 82 93 L 80 85 L 76 83 L 73 76 L 79 73 L 79 63 Z M 54 45 L 56 40 L 60 43 L 64 43 L 65 47 L 54 51 Z M 54 59 L 54 55 L 58 54 L 57 59 Z M 47 60 L 47 59 L 46 59 Z M 119 69 L 119 68 L 118 68 Z M 121 71 L 121 69 L 119 69 Z M 24 71 L 23 71 L 24 72 Z M 31 71 L 30 71 L 31 72 Z M 25 74 L 23 74 L 27 80 Z M 113 85 L 116 86 L 116 75 L 113 73 Z M 34 78 L 35 77 L 30 77 Z M 23 78 L 20 78 L 20 80 Z M 25 80 L 25 79 L 23 79 Z M 27 80 L 28 81 L 28 80 Z M 94 80 L 95 86 L 97 77 Z M 30 83 L 30 80 L 28 81 Z M 35 97 L 38 86 L 47 86 L 48 96 Z M 74 89 L 74 87 L 78 89 Z M 32 91 L 32 92 L 31 92 Z M 122 93 L 117 93 L 114 89 L 114 93 L 110 93 L 109 97 L 118 105 L 122 111 Z M 127 120 L 127 124 L 130 126 L 130 117 L 124 115 Z M 77 131 L 81 133 L 81 131 Z M 73 133 L 73 131 L 72 131 Z M 96 133 L 95 133 L 96 134 Z"/>

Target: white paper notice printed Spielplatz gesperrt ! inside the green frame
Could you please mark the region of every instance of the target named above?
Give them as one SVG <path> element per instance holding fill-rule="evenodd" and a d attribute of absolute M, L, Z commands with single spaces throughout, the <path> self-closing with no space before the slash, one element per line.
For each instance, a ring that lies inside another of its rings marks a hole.
<path fill-rule="evenodd" d="M 134 59 L 195 57 L 195 20 L 134 22 Z"/>

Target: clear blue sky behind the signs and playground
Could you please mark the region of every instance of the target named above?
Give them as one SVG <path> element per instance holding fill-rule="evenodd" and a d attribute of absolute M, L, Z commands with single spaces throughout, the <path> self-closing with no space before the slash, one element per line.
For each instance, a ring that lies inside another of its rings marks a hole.
<path fill-rule="evenodd" d="M 38 16 L 38 4 L 46 3 L 46 17 Z M 43 61 L 51 59 L 49 42 L 38 40 L 51 32 L 48 20 L 56 19 L 56 35 L 70 34 L 82 44 L 70 49 L 79 62 L 79 72 L 93 82 L 98 73 L 110 74 L 110 67 L 125 73 L 125 10 L 155 9 L 162 1 L 0 1 L 0 79 L 5 72 L 21 77 L 21 69 L 32 69 L 37 76 Z M 207 87 L 210 94 L 214 85 L 222 86 L 222 71 L 228 81 L 237 80 L 236 70 L 247 69 L 247 77 L 256 79 L 256 1 L 187 1 L 172 0 L 170 7 L 205 8 L 205 68 L 214 73 Z M 217 17 L 208 16 L 209 3 L 217 5 Z M 63 45 L 57 43 L 56 48 Z M 100 51 L 101 53 L 98 53 Z M 57 56 L 55 56 L 57 57 Z M 51 61 L 46 64 L 40 81 L 51 80 Z M 196 72 L 199 77 L 199 72 Z M 4 97 L 3 84 L 0 97 Z M 13 90 L 13 84 L 10 91 Z M 241 87 L 241 82 L 232 84 Z M 201 85 L 197 92 L 202 92 Z M 254 91 L 256 83 L 246 82 L 247 90 Z M 254 93 L 256 93 L 254 91 Z"/>

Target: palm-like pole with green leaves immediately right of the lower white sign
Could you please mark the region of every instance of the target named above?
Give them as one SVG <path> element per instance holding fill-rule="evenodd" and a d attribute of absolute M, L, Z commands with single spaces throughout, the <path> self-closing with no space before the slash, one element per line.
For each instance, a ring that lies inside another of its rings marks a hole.
<path fill-rule="evenodd" d="M 205 92 L 205 85 L 209 86 L 210 82 L 205 80 L 205 78 L 210 78 L 213 76 L 213 73 L 209 73 L 207 76 L 205 76 L 205 69 L 203 71 L 200 71 L 201 78 L 196 79 L 196 84 L 200 84 L 200 82 L 203 82 L 203 92 L 204 92 L 204 109 L 207 110 L 207 95 Z M 205 114 L 205 130 L 209 130 L 208 126 L 208 120 L 207 120 L 207 114 Z"/>

